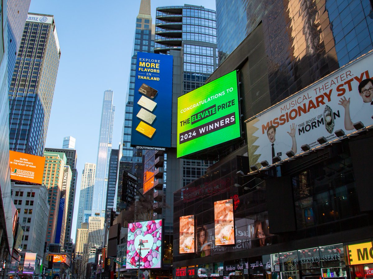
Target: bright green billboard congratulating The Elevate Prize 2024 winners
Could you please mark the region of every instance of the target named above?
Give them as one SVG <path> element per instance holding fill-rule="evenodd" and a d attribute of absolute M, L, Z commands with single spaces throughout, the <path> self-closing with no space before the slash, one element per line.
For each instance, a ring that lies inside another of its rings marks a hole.
<path fill-rule="evenodd" d="M 241 136 L 233 71 L 178 98 L 177 157 Z"/>

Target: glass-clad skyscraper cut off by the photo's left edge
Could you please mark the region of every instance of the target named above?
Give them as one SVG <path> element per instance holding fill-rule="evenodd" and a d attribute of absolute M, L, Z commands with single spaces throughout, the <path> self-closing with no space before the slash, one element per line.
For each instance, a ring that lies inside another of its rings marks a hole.
<path fill-rule="evenodd" d="M 8 234 L 5 238 L 7 241 L 0 244 L 0 254 L 3 259 L 8 259 L 13 245 L 9 176 L 9 98 L 7 94 L 29 4 L 29 0 L 8 0 L 1 1 L 0 6 L 2 23 L 0 26 L 0 228 Z"/>

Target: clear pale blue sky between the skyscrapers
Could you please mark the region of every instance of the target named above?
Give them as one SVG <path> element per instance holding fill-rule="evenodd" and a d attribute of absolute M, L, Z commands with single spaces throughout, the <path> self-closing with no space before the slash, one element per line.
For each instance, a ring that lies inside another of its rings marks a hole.
<path fill-rule="evenodd" d="M 152 0 L 156 7 L 203 5 L 215 10 L 215 0 Z M 119 148 L 125 100 L 140 0 L 31 0 L 29 12 L 53 15 L 61 48 L 46 147 L 62 148 L 63 137 L 76 138 L 78 182 L 72 221 L 75 242 L 81 174 L 96 163 L 104 91 L 113 90 L 113 148 Z"/>

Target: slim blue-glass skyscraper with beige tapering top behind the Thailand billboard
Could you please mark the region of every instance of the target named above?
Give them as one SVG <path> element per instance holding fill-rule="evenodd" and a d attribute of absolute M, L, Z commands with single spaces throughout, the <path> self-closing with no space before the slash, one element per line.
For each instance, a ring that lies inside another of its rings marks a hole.
<path fill-rule="evenodd" d="M 142 185 L 143 158 L 142 150 L 131 147 L 132 112 L 135 94 L 135 76 L 137 52 L 154 52 L 154 32 L 150 13 L 150 0 L 141 0 L 140 10 L 136 17 L 136 30 L 134 48 L 132 49 L 131 70 L 128 80 L 128 92 L 126 96 L 126 111 L 123 121 L 122 157 L 119 162 L 118 189 L 122 189 L 123 171 L 128 171 L 138 178 L 138 184 Z M 120 203 L 118 208 L 125 205 Z"/>

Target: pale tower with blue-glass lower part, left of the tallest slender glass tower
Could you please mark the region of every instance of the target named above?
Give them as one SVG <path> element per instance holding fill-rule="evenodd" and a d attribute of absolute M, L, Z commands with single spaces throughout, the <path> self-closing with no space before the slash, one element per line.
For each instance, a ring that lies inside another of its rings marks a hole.
<path fill-rule="evenodd" d="M 82 223 L 88 223 L 92 212 L 93 185 L 96 177 L 96 164 L 85 163 L 80 185 L 78 220 L 76 228 L 81 228 Z"/>

